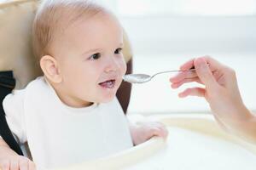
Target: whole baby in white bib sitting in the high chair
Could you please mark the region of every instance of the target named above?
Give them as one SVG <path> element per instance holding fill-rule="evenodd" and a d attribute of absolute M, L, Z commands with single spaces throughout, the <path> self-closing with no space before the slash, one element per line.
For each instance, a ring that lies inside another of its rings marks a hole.
<path fill-rule="evenodd" d="M 88 0 L 45 0 L 33 25 L 44 77 L 3 100 L 12 133 L 32 161 L 0 139 L 0 168 L 63 167 L 108 156 L 153 136 L 157 122 L 131 124 L 115 94 L 125 75 L 123 29 L 106 8 Z"/>

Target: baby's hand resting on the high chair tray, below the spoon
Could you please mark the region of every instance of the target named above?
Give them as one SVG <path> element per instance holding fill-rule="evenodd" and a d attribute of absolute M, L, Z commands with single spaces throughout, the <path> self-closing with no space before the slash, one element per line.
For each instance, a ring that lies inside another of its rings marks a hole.
<path fill-rule="evenodd" d="M 131 138 L 133 144 L 142 144 L 143 142 L 151 139 L 153 136 L 159 136 L 166 139 L 168 131 L 160 122 L 139 122 L 131 124 Z"/>

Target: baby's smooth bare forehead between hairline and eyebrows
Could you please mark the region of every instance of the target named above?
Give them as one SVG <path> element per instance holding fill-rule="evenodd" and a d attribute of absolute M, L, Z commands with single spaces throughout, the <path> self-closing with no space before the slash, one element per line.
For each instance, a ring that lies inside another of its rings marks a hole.
<path fill-rule="evenodd" d="M 115 48 L 123 42 L 123 29 L 112 15 L 94 14 L 73 21 L 55 38 L 55 45 L 68 47 L 70 50 L 79 48 L 82 51 L 84 48 L 112 48 L 112 46 Z M 107 46 L 106 42 L 109 43 Z"/>

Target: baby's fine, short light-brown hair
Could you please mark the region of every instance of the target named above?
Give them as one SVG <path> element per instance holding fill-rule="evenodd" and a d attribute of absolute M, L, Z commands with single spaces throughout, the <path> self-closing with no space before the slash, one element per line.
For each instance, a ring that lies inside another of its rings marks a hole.
<path fill-rule="evenodd" d="M 74 21 L 98 13 L 109 13 L 93 0 L 44 0 L 33 22 L 33 51 L 39 61 L 50 53 L 52 42 Z"/>

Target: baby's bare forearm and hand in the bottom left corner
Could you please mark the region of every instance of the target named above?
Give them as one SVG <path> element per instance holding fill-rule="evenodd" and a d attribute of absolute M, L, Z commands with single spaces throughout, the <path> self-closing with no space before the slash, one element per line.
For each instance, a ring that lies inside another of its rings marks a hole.
<path fill-rule="evenodd" d="M 9 145 L 0 139 L 0 169 L 1 170 L 35 170 L 35 163 L 25 156 L 19 156 Z"/>

